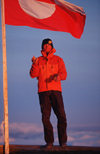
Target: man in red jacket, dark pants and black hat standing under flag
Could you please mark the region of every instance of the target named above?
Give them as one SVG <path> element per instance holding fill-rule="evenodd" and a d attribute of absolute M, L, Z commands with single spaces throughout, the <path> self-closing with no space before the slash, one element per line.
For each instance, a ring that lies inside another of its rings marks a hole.
<path fill-rule="evenodd" d="M 32 58 L 33 63 L 30 69 L 30 76 L 38 79 L 38 94 L 47 148 L 51 148 L 54 142 L 53 127 L 50 122 L 51 107 L 58 120 L 59 144 L 65 147 L 67 142 L 67 119 L 61 88 L 61 80 L 66 80 L 67 72 L 62 58 L 54 55 L 55 52 L 52 40 L 44 39 L 42 41 L 42 56 Z"/>

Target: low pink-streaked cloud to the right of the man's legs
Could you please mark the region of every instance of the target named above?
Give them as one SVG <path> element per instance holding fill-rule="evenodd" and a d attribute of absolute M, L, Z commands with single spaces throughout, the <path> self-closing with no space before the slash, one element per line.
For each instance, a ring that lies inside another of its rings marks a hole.
<path fill-rule="evenodd" d="M 68 143 L 74 146 L 100 146 L 100 131 L 89 129 L 68 131 Z"/>

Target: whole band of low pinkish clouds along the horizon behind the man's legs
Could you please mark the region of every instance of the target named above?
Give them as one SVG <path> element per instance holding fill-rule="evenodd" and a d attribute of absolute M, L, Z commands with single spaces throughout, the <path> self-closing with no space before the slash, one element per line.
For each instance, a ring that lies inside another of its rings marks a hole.
<path fill-rule="evenodd" d="M 0 144 L 4 142 L 3 127 L 0 125 Z M 89 129 L 90 128 L 90 129 Z M 99 127 L 78 126 L 68 129 L 68 145 L 73 146 L 100 146 Z M 57 129 L 54 128 L 55 144 L 58 143 Z M 34 123 L 10 123 L 10 144 L 45 144 L 43 127 Z"/>

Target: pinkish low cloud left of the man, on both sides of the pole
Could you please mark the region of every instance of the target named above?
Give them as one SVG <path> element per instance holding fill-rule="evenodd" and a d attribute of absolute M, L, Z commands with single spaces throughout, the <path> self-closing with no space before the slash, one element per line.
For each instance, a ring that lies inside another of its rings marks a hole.
<path fill-rule="evenodd" d="M 0 125 L 0 143 L 4 142 L 3 127 Z M 37 140 L 43 136 L 43 128 L 37 124 L 31 123 L 11 123 L 9 124 L 9 141 L 10 143 L 19 144 L 22 140 Z M 26 142 L 25 141 L 25 142 Z"/>

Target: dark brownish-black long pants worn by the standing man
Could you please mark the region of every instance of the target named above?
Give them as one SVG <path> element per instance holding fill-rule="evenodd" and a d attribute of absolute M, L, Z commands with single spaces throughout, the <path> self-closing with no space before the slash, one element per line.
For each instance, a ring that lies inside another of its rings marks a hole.
<path fill-rule="evenodd" d="M 40 107 L 42 113 L 42 122 L 44 126 L 44 138 L 46 143 L 54 142 L 53 127 L 50 122 L 51 107 L 57 117 L 59 144 L 67 142 L 67 120 L 64 111 L 62 93 L 59 91 L 47 91 L 39 93 Z"/>

